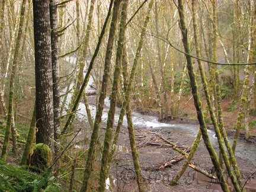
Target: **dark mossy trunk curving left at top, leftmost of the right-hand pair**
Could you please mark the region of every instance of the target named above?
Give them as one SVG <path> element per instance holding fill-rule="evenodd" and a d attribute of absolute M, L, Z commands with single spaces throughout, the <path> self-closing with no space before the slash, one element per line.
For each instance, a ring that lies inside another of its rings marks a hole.
<path fill-rule="evenodd" d="M 216 169 L 217 177 L 219 178 L 220 181 L 222 181 L 220 182 L 222 190 L 229 191 L 228 184 L 225 181 L 222 168 L 220 167 L 219 161 L 217 159 L 217 154 L 213 149 L 212 143 L 210 142 L 209 135 L 207 133 L 206 124 L 203 119 L 203 113 L 201 111 L 201 101 L 199 99 L 199 94 L 197 91 L 197 83 L 196 83 L 196 78 L 194 74 L 193 62 L 192 62 L 192 58 L 189 56 L 190 48 L 189 48 L 188 37 L 187 37 L 187 27 L 185 24 L 184 4 L 182 0 L 178 0 L 178 12 L 180 15 L 180 28 L 183 36 L 183 45 L 184 45 L 185 53 L 188 54 L 188 55 L 185 55 L 185 57 L 187 60 L 188 75 L 190 76 L 191 91 L 194 98 L 194 105 L 197 110 L 197 119 L 199 120 L 200 130 L 202 133 L 204 144 L 206 145 L 206 148 L 209 151 L 210 158 L 212 159 L 213 165 Z"/>

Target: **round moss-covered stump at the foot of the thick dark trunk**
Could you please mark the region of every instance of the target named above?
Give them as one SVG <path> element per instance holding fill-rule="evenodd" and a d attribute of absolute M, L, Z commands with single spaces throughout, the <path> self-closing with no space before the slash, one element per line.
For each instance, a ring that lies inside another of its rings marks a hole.
<path fill-rule="evenodd" d="M 31 165 L 40 169 L 46 169 L 52 162 L 52 151 L 49 146 L 44 143 L 38 143 L 33 146 L 33 154 L 31 155 Z"/>

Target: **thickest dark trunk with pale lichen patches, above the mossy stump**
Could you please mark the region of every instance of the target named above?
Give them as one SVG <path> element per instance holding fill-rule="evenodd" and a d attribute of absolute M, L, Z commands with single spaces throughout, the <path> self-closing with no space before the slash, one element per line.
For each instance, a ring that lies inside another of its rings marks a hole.
<path fill-rule="evenodd" d="M 36 143 L 52 146 L 53 77 L 49 1 L 33 0 L 36 71 Z"/>

